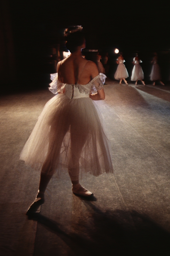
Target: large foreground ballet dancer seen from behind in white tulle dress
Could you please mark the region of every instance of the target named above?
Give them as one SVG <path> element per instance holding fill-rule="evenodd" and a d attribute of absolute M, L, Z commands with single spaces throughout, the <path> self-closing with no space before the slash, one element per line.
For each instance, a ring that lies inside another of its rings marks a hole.
<path fill-rule="evenodd" d="M 79 184 L 79 171 L 94 176 L 113 172 L 108 139 L 93 101 L 105 98 L 106 76 L 82 57 L 82 31 L 68 35 L 66 47 L 71 54 L 58 63 L 58 74 L 52 75 L 50 84 L 58 95 L 47 102 L 20 156 L 34 169 L 41 169 L 39 191 L 27 215 L 44 203 L 54 172 L 59 175 L 67 169 L 72 192 L 79 196 L 93 195 Z"/>

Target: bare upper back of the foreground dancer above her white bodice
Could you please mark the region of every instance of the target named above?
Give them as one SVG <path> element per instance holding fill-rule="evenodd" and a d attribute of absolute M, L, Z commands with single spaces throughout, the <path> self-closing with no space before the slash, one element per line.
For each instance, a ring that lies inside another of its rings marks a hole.
<path fill-rule="evenodd" d="M 99 74 L 96 64 L 72 54 L 57 66 L 58 79 L 67 84 L 87 84 Z"/>

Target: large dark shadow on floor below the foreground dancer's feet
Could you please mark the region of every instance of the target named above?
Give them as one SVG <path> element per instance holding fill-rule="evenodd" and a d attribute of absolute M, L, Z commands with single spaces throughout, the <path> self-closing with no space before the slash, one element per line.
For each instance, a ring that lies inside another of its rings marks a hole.
<path fill-rule="evenodd" d="M 170 255 L 170 233 L 146 215 L 136 211 L 104 212 L 88 201 L 84 205 L 91 212 L 90 221 L 80 218 L 74 232 L 63 231 L 59 223 L 39 213 L 29 218 L 60 237 L 70 248 L 69 256 Z"/>

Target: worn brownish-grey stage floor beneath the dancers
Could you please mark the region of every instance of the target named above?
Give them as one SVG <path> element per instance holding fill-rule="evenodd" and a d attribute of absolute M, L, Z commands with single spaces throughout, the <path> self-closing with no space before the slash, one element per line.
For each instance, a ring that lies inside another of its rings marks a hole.
<path fill-rule="evenodd" d="M 140 83 L 140 82 L 139 82 Z M 0 255 L 170 255 L 170 86 L 106 80 L 97 101 L 114 174 L 82 178 L 93 200 L 72 194 L 68 174 L 52 178 L 34 219 L 39 173 L 19 160 L 47 90 L 4 95 L 0 106 Z"/>

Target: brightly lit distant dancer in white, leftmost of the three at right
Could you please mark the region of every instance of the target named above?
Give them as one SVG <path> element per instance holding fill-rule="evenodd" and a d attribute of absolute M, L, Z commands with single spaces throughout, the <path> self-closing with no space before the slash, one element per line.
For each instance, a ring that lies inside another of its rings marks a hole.
<path fill-rule="evenodd" d="M 124 81 L 124 83 L 128 84 L 127 81 L 125 80 L 125 78 L 127 78 L 129 75 L 128 75 L 125 65 L 123 64 L 124 62 L 125 62 L 125 60 L 123 59 L 122 53 L 120 53 L 120 56 L 118 57 L 118 59 L 116 61 L 116 63 L 119 65 L 115 72 L 115 79 L 120 80 L 119 84 L 122 84 L 122 80 Z"/>

